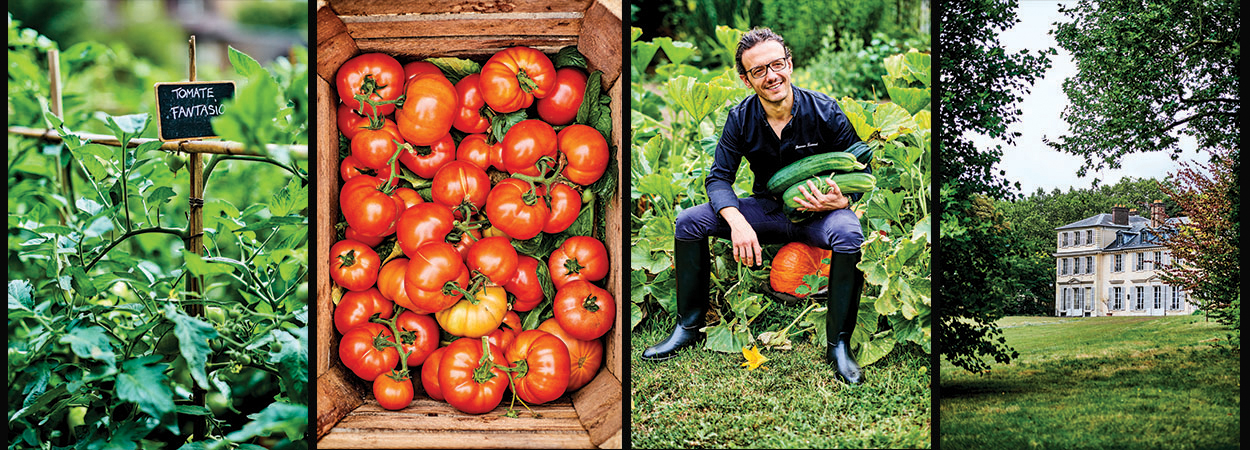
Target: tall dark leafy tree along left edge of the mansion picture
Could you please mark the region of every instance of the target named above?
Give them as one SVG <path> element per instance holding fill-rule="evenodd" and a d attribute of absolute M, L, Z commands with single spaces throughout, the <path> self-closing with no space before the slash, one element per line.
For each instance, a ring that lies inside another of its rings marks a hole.
<path fill-rule="evenodd" d="M 1050 68 L 1052 49 L 1008 52 L 999 42 L 999 34 L 1019 22 L 1016 8 L 1012 0 L 938 5 L 942 302 L 935 341 L 951 364 L 969 371 L 988 369 L 984 358 L 1009 362 L 1015 356 L 994 325 L 1018 280 L 1004 264 L 1010 240 L 991 200 L 1011 196 L 1011 184 L 995 168 L 1002 146 L 978 148 L 970 136 L 1012 144 L 1019 132 L 1008 126 L 1020 120 L 1016 104 Z"/>

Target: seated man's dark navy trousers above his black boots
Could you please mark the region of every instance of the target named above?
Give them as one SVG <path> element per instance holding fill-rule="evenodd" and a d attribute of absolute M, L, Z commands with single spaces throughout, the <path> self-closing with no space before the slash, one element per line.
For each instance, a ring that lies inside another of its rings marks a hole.
<path fill-rule="evenodd" d="M 755 229 L 760 245 L 800 241 L 835 252 L 856 252 L 864 242 L 864 230 L 859 218 L 849 208 L 802 222 L 790 222 L 781 204 L 762 198 L 739 199 L 738 209 Z M 708 236 L 730 239 L 729 222 L 712 211 L 711 204 L 701 204 L 678 214 L 678 240 L 700 240 Z"/>

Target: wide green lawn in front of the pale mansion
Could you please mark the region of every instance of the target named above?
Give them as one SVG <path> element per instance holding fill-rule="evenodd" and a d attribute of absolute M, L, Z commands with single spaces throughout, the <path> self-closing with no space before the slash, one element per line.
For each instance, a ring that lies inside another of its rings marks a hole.
<path fill-rule="evenodd" d="M 942 449 L 1240 448 L 1241 354 L 1200 316 L 1006 318 L 1020 358 L 942 361 Z"/>

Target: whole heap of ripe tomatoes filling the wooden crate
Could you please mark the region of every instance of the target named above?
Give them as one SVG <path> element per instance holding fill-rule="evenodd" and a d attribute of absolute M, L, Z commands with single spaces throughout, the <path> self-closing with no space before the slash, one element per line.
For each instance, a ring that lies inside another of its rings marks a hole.
<path fill-rule="evenodd" d="M 566 235 L 585 186 L 608 168 L 602 134 L 574 124 L 586 74 L 519 46 L 458 76 L 364 54 L 335 80 L 350 142 L 345 239 L 330 249 L 330 276 L 345 290 L 334 311 L 339 358 L 386 409 L 411 404 L 416 376 L 430 398 L 468 414 L 495 409 L 509 390 L 524 402 L 555 400 L 594 379 L 600 338 L 616 320 L 615 300 L 595 284 L 609 270 L 602 241 L 571 235 L 550 255 L 514 245 Z M 510 126 L 492 139 L 501 120 Z M 522 330 L 518 312 L 541 305 L 542 319 L 549 304 L 552 318 Z"/>

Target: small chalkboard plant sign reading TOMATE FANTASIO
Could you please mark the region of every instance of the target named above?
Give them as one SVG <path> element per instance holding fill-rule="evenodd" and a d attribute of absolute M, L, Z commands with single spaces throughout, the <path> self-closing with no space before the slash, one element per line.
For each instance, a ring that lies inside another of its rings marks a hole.
<path fill-rule="evenodd" d="M 234 81 L 184 81 L 156 84 L 156 130 L 160 140 L 218 138 L 212 118 L 234 96 Z"/>

